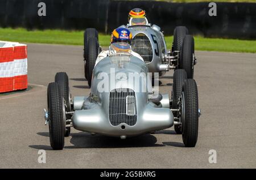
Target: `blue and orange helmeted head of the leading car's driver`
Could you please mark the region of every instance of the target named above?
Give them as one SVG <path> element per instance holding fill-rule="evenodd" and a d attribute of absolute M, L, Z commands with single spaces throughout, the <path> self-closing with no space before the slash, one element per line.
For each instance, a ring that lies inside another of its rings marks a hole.
<path fill-rule="evenodd" d="M 114 29 L 111 35 L 110 42 L 127 42 L 131 45 L 131 39 L 133 36 L 131 35 L 131 32 L 127 28 L 117 28 Z"/>

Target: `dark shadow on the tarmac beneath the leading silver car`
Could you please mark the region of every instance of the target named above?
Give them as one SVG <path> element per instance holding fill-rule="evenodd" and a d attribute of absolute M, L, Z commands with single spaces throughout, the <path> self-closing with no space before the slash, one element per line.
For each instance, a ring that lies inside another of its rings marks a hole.
<path fill-rule="evenodd" d="M 49 132 L 38 132 L 40 136 L 49 137 Z M 176 134 L 173 130 L 156 131 L 155 134 Z M 103 135 L 91 135 L 88 132 L 77 132 L 70 134 L 70 143 L 73 145 L 64 146 L 64 149 L 77 148 L 138 148 L 138 147 L 184 147 L 183 143 L 163 142 L 156 144 L 157 139 L 154 135 L 144 134 L 140 136 L 120 139 Z M 34 149 L 52 150 L 50 145 L 29 145 Z"/>

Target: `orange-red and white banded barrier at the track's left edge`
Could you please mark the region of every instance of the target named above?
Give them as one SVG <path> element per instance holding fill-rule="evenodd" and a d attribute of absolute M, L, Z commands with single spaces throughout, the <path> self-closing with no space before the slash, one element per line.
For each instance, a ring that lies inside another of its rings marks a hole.
<path fill-rule="evenodd" d="M 0 92 L 27 89 L 27 45 L 0 41 Z"/>

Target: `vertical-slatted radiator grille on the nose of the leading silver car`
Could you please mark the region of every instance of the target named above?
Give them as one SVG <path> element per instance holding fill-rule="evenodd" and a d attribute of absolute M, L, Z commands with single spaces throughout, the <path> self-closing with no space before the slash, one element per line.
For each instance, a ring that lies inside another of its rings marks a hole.
<path fill-rule="evenodd" d="M 117 88 L 109 93 L 109 121 L 118 126 L 126 123 L 134 126 L 137 122 L 136 98 L 133 89 Z"/>

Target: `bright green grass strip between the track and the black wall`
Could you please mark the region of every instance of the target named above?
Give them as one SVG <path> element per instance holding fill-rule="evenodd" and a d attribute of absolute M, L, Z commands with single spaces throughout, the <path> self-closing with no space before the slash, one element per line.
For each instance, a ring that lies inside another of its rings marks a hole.
<path fill-rule="evenodd" d="M 35 30 L 27 31 L 24 28 L 0 28 L 0 40 L 15 42 L 34 42 L 43 44 L 64 44 L 83 45 L 83 31 L 63 31 L 63 30 Z M 101 46 L 108 46 L 110 35 L 100 34 Z M 171 48 L 173 37 L 167 36 L 167 48 Z M 222 38 L 204 38 L 195 36 L 195 49 L 218 52 L 245 52 L 256 53 L 255 40 L 234 40 Z"/>

